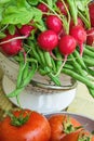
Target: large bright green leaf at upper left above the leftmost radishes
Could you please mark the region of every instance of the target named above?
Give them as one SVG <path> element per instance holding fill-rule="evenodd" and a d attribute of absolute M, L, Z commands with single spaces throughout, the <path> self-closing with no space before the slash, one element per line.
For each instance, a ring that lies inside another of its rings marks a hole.
<path fill-rule="evenodd" d="M 32 18 L 35 21 L 39 21 L 42 16 L 42 12 L 36 8 L 17 8 L 17 7 L 9 7 L 1 21 L 1 24 L 27 24 Z"/>

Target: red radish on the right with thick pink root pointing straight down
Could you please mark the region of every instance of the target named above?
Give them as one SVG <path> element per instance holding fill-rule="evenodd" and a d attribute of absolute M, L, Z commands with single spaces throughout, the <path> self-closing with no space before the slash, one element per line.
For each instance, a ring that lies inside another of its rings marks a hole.
<path fill-rule="evenodd" d="M 70 29 L 70 35 L 76 39 L 78 46 L 80 47 L 80 55 L 83 54 L 83 42 L 86 41 L 86 31 L 82 26 L 72 26 Z"/>

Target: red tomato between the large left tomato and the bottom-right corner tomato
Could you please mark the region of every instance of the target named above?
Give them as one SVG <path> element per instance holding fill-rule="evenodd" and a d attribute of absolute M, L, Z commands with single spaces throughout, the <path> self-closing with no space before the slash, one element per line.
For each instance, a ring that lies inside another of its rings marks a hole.
<path fill-rule="evenodd" d="M 68 127 L 72 128 L 81 126 L 81 124 L 75 119 L 73 117 L 68 117 L 66 115 L 52 115 L 49 118 L 49 123 L 51 126 L 51 139 L 50 141 L 61 141 L 61 139 L 66 136 L 66 133 L 70 132 Z"/>

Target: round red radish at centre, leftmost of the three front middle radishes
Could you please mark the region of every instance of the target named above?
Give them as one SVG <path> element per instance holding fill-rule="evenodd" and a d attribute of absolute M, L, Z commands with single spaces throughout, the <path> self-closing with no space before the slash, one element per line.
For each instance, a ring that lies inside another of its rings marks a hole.
<path fill-rule="evenodd" d="M 45 30 L 38 37 L 38 43 L 41 49 L 52 51 L 58 44 L 58 37 L 53 30 Z"/>

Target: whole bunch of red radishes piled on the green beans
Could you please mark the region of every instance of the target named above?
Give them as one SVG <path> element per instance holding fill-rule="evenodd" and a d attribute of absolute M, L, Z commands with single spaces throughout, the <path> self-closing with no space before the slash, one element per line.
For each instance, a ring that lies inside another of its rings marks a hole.
<path fill-rule="evenodd" d="M 57 8 L 59 11 L 67 16 L 67 12 L 65 10 L 65 7 L 61 0 L 57 0 L 56 2 Z M 39 3 L 37 7 L 42 12 L 48 12 L 49 8 L 43 4 Z M 68 5 L 67 5 L 68 8 Z M 94 3 L 90 4 L 90 17 L 92 26 L 94 26 L 94 15 L 93 8 Z M 78 17 L 78 24 L 75 25 L 73 21 L 70 22 L 70 29 L 69 34 L 67 35 L 65 33 L 63 22 L 57 15 L 46 15 L 43 16 L 46 30 L 40 33 L 38 35 L 38 44 L 41 49 L 44 51 L 52 52 L 52 50 L 56 47 L 58 47 L 59 52 L 67 59 L 69 54 L 71 54 L 76 47 L 80 47 L 80 54 L 82 56 L 83 53 L 83 43 L 86 42 L 88 44 L 92 46 L 94 40 L 94 28 L 91 28 L 86 31 L 83 22 L 80 17 Z M 10 35 L 6 31 L 6 37 L 0 40 L 0 49 L 2 52 L 4 52 L 6 55 L 16 55 L 22 49 L 23 49 L 23 39 L 28 38 L 30 36 L 30 33 L 35 29 L 35 26 L 32 25 L 23 25 L 21 29 L 17 29 L 17 31 L 14 35 Z M 18 38 L 19 36 L 23 36 Z M 12 40 L 12 38 L 14 38 Z"/>

